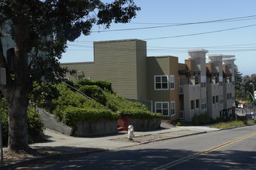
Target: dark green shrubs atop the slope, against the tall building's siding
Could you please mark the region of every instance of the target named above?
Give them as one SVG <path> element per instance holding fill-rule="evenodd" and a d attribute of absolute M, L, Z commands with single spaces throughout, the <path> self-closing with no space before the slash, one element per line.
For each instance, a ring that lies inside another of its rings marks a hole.
<path fill-rule="evenodd" d="M 85 85 L 96 85 L 100 87 L 102 90 L 108 91 L 110 93 L 113 93 L 112 90 L 112 83 L 106 80 L 88 80 L 88 79 L 80 79 L 76 81 L 77 84 L 80 84 L 81 86 Z"/>

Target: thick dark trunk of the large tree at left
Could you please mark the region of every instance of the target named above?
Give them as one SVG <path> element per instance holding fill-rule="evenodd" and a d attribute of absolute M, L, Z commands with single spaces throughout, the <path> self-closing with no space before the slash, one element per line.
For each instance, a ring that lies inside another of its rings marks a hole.
<path fill-rule="evenodd" d="M 19 6 L 16 10 L 19 11 Z M 29 96 L 29 24 L 26 15 L 21 15 L 18 19 L 13 19 L 12 22 L 16 46 L 14 79 L 5 93 L 9 114 L 8 147 L 12 151 L 26 151 L 29 148 L 26 112 Z"/>

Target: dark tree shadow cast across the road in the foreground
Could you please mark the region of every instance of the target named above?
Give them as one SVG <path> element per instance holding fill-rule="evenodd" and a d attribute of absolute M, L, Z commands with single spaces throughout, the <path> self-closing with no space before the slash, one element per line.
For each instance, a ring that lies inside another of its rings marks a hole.
<path fill-rule="evenodd" d="M 70 158 L 36 169 L 152 169 L 180 160 L 168 169 L 254 169 L 256 151 L 213 151 L 189 159 L 194 151 L 139 149 L 95 153 L 83 158 Z M 52 162 L 53 163 L 53 162 Z M 30 167 L 31 168 L 31 167 Z"/>

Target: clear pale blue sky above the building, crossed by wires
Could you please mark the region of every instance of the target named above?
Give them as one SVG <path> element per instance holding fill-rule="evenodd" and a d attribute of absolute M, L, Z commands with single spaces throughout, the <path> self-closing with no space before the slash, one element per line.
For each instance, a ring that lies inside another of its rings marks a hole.
<path fill-rule="evenodd" d="M 110 29 L 94 26 L 90 36 L 67 42 L 61 63 L 92 62 L 94 41 L 142 39 L 147 56 L 178 56 L 184 63 L 188 49 L 207 49 L 206 56 L 234 55 L 243 76 L 256 73 L 256 0 L 134 2 L 141 8 L 136 19 Z"/>

